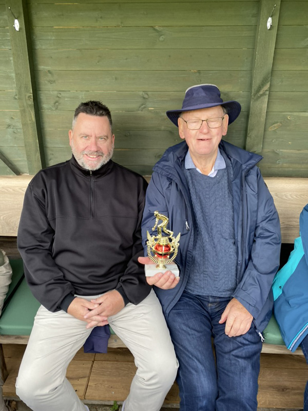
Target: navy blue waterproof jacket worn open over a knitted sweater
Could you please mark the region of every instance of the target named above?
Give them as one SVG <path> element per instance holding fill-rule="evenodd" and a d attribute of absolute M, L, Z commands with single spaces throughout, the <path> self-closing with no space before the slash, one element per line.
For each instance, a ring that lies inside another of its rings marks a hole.
<path fill-rule="evenodd" d="M 257 330 L 263 331 L 273 308 L 271 290 L 279 267 L 281 245 L 279 217 L 274 201 L 256 163 L 261 156 L 221 141 L 220 152 L 233 168 L 233 203 L 237 258 L 237 288 L 233 294 L 254 316 Z M 142 237 L 155 224 L 154 211 L 169 217 L 169 229 L 181 233 L 176 263 L 180 282 L 171 290 L 154 287 L 166 318 L 179 300 L 191 264 L 194 216 L 186 178 L 183 172 L 188 147 L 186 142 L 168 148 L 153 167 L 146 193 Z"/>

